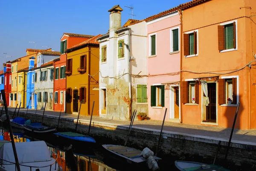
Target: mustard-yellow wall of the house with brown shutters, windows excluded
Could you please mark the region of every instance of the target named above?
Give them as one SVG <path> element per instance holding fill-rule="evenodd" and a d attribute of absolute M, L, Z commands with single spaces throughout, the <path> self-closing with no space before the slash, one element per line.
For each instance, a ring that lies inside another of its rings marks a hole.
<path fill-rule="evenodd" d="M 80 67 L 80 56 L 87 55 L 87 71 L 83 74 L 77 71 Z M 98 115 L 99 110 L 99 47 L 84 47 L 67 53 L 67 60 L 73 59 L 72 75 L 67 76 L 67 89 L 72 88 L 72 102 L 66 103 L 66 113 L 73 113 L 73 91 L 86 87 L 86 102 L 81 104 L 81 115 L 88 116 L 91 113 L 93 101 L 93 115 Z M 97 74 L 96 74 L 97 73 Z M 94 75 L 91 78 L 88 74 Z M 95 75 L 96 74 L 96 75 Z M 94 88 L 94 90 L 93 90 Z M 96 90 L 95 90 L 96 89 Z M 79 110 L 80 102 L 78 102 Z"/>

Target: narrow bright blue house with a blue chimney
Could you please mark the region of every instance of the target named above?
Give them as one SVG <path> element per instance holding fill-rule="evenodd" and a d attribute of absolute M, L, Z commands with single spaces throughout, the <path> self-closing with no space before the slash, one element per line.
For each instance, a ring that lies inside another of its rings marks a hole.
<path fill-rule="evenodd" d="M 32 68 L 35 67 L 35 58 L 29 58 L 29 70 L 27 74 L 27 86 L 26 86 L 26 108 L 36 109 L 37 101 L 35 92 L 35 70 Z"/>

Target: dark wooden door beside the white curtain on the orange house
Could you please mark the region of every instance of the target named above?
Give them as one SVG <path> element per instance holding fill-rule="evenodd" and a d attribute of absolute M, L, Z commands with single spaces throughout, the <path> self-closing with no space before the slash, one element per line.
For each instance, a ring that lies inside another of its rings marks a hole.
<path fill-rule="evenodd" d="M 216 122 L 216 84 L 207 83 L 209 104 L 206 107 L 206 119 L 208 122 Z"/>

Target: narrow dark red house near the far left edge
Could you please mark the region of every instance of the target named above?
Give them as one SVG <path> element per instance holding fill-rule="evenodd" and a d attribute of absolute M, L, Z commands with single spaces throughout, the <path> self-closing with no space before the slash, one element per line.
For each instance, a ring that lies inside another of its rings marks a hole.
<path fill-rule="evenodd" d="M 4 90 L 6 93 L 6 102 L 7 106 L 11 105 L 11 89 L 12 89 L 12 64 L 10 61 L 6 62 L 6 64 L 3 64 L 3 67 L 6 67 L 6 70 L 4 72 Z"/>

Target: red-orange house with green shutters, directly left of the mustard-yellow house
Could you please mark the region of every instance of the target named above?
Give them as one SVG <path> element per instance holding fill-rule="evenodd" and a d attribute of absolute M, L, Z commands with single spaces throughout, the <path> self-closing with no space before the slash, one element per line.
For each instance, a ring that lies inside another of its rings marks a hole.
<path fill-rule="evenodd" d="M 53 110 L 65 112 L 66 106 L 66 54 L 65 50 L 78 43 L 93 38 L 93 35 L 80 35 L 64 33 L 61 37 L 61 57 L 54 60 L 54 82 L 53 82 Z M 62 107 L 62 110 L 61 110 Z"/>

